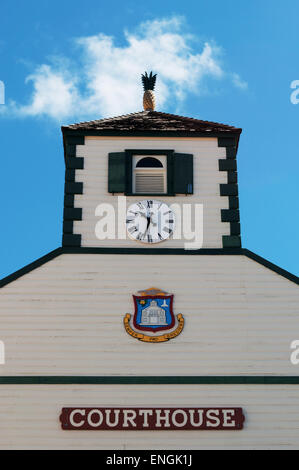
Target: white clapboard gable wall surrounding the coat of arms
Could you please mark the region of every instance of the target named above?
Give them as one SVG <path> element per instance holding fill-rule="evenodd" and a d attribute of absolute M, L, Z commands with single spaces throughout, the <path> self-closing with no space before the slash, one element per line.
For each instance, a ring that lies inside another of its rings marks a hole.
<path fill-rule="evenodd" d="M 123 327 L 153 286 L 185 318 L 167 343 Z M 241 255 L 64 254 L 0 290 L 0 375 L 297 375 L 298 293 Z"/>

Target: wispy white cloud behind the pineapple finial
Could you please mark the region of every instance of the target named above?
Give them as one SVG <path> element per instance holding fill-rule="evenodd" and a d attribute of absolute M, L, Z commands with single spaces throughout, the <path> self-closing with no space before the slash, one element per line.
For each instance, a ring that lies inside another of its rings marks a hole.
<path fill-rule="evenodd" d="M 194 50 L 195 38 L 183 31 L 180 17 L 145 22 L 124 36 L 123 46 L 101 33 L 77 38 L 76 62 L 71 66 L 69 60 L 60 60 L 37 67 L 26 79 L 33 86 L 29 103 L 12 104 L 10 109 L 58 120 L 136 112 L 142 109 L 140 74 L 145 70 L 158 73 L 159 110 L 177 107 L 190 93 L 200 95 L 207 78 L 230 79 L 238 88 L 247 87 L 238 74 L 224 71 L 214 43 Z"/>

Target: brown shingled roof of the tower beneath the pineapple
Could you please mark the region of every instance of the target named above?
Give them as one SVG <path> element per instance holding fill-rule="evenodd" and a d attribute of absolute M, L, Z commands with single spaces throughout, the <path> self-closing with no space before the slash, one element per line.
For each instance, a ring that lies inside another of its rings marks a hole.
<path fill-rule="evenodd" d="M 175 114 L 158 111 L 142 111 L 125 114 L 108 119 L 80 122 L 63 126 L 62 131 L 107 131 L 107 132 L 187 132 L 189 133 L 234 133 L 240 134 L 242 129 L 220 124 L 218 122 L 202 121 Z"/>

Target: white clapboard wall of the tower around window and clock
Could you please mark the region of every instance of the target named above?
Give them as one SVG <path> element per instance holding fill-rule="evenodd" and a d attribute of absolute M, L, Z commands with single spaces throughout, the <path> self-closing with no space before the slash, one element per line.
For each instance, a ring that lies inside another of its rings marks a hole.
<path fill-rule="evenodd" d="M 221 248 L 222 235 L 230 234 L 229 223 L 221 222 L 221 209 L 228 208 L 228 198 L 220 196 L 221 183 L 227 183 L 227 173 L 219 171 L 218 160 L 226 158 L 226 149 L 218 147 L 216 138 L 118 138 L 85 137 L 85 145 L 77 146 L 77 156 L 84 157 L 84 169 L 76 170 L 76 181 L 83 182 L 83 194 L 75 196 L 75 207 L 82 208 L 82 220 L 74 222 L 74 233 L 82 235 L 82 246 L 119 246 L 148 248 L 149 244 L 126 239 L 99 240 L 95 226 L 100 218 L 95 209 L 101 203 L 113 205 L 117 215 L 117 195 L 108 193 L 108 154 L 125 149 L 173 149 L 194 155 L 194 194 L 176 197 L 159 196 L 167 204 L 203 205 L 203 247 Z M 127 197 L 127 207 L 144 197 Z M 176 211 L 174 211 L 176 212 Z M 194 217 L 194 211 L 193 211 Z M 181 248 L 184 239 L 155 244 L 156 248 Z"/>

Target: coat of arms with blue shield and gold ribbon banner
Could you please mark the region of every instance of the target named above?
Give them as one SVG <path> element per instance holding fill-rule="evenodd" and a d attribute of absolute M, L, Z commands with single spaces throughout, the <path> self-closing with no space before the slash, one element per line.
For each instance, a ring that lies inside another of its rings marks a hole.
<path fill-rule="evenodd" d="M 124 318 L 127 333 L 140 341 L 158 343 L 178 336 L 184 317 L 173 313 L 173 294 L 152 287 L 133 295 L 135 313 Z M 162 333 L 162 334 L 161 334 Z"/>

